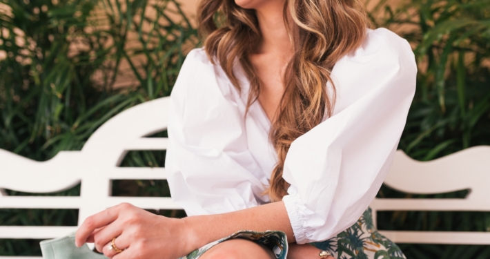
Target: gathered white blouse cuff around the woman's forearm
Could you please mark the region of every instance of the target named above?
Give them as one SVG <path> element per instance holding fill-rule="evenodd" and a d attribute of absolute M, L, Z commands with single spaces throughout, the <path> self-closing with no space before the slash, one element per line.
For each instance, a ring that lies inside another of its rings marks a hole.
<path fill-rule="evenodd" d="M 286 195 L 282 198 L 282 202 L 284 202 L 284 206 L 286 206 L 296 243 L 306 243 L 308 240 L 306 240 L 306 229 L 303 227 L 304 218 L 302 213 L 300 213 L 300 208 L 304 206 L 301 199 L 295 195 Z"/>

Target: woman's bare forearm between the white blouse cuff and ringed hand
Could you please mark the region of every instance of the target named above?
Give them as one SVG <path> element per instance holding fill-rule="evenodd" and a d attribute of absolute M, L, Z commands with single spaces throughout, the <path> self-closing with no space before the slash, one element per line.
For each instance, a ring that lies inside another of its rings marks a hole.
<path fill-rule="evenodd" d="M 273 202 L 216 215 L 190 216 L 183 220 L 192 249 L 197 249 L 240 230 L 279 230 L 286 233 L 288 242 L 295 242 L 284 202 Z"/>

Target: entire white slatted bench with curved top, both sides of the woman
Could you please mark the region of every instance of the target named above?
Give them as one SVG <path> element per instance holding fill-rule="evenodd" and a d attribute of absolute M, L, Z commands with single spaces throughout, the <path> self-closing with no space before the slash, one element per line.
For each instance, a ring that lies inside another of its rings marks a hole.
<path fill-rule="evenodd" d="M 147 138 L 167 126 L 168 97 L 139 104 L 110 119 L 81 151 L 62 151 L 35 162 L 0 149 L 0 209 L 79 209 L 79 224 L 89 215 L 121 202 L 144 209 L 181 209 L 171 198 L 112 197 L 112 180 L 164 180 L 164 168 L 122 168 L 128 151 L 161 151 L 166 138 Z M 408 193 L 444 193 L 471 189 L 465 199 L 375 199 L 376 211 L 490 211 L 490 147 L 468 148 L 432 162 L 415 162 L 398 151 L 385 183 Z M 52 193 L 81 183 L 79 197 L 8 196 L 2 189 Z M 0 226 L 0 238 L 48 239 L 77 227 Z M 394 242 L 490 244 L 490 233 L 382 231 Z M 6 259 L 8 257 L 1 257 Z M 10 259 L 21 257 L 10 257 Z M 24 257 L 25 258 L 25 257 Z"/>

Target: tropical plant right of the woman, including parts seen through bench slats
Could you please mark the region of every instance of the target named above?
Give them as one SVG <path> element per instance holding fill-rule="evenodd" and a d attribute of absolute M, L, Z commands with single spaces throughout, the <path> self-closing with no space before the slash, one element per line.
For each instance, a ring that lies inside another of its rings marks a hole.
<path fill-rule="evenodd" d="M 381 1 L 370 12 L 377 26 L 408 39 L 418 61 L 415 99 L 398 148 L 433 160 L 490 145 L 490 1 Z M 468 190 L 409 195 L 386 186 L 389 198 L 464 198 Z M 490 213 L 398 211 L 378 213 L 380 229 L 490 231 Z M 490 247 L 400 244 L 407 258 L 490 258 Z"/>

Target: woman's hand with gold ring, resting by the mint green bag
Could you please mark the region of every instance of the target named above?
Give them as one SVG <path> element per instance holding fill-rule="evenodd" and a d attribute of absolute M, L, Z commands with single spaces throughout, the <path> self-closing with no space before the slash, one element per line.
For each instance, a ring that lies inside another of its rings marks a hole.
<path fill-rule="evenodd" d="M 193 251 L 186 247 L 188 236 L 183 220 L 123 203 L 87 218 L 77 231 L 75 244 L 81 247 L 94 242 L 97 251 L 114 259 L 175 259 Z M 111 249 L 112 238 L 124 251 Z"/>

